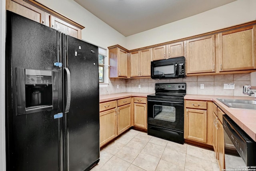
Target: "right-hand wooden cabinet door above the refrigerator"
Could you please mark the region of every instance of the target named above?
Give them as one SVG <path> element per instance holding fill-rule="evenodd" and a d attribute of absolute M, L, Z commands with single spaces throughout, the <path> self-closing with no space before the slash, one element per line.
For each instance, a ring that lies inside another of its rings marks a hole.
<path fill-rule="evenodd" d="M 60 20 L 55 16 L 51 16 L 50 27 L 74 38 L 82 39 L 81 29 L 72 26 L 63 20 Z"/>

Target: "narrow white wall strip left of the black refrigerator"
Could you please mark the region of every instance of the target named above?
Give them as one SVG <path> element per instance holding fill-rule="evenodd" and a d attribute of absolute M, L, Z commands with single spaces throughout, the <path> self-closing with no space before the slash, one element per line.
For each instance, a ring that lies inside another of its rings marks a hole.
<path fill-rule="evenodd" d="M 0 170 L 6 170 L 5 157 L 5 0 L 0 0 Z"/>

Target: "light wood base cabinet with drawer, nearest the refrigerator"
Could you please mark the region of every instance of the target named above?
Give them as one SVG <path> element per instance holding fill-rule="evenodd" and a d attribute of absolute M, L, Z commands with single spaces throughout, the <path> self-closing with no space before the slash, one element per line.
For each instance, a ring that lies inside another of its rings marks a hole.
<path fill-rule="evenodd" d="M 100 147 L 117 136 L 116 100 L 100 103 Z"/>

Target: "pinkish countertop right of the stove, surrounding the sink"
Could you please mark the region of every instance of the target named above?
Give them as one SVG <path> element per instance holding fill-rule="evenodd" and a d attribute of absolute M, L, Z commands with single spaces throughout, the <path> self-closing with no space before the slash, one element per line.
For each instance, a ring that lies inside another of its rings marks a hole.
<path fill-rule="evenodd" d="M 230 108 L 218 101 L 217 98 L 223 99 L 244 99 L 256 100 L 250 96 L 221 96 L 221 95 L 185 95 L 187 100 L 207 100 L 213 101 L 222 111 L 224 111 L 238 126 L 240 126 L 254 141 L 256 141 L 256 111 L 249 109 Z"/>

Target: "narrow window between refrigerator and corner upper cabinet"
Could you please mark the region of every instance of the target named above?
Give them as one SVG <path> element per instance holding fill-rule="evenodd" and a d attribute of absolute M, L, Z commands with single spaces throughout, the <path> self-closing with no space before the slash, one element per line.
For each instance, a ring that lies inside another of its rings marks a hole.
<path fill-rule="evenodd" d="M 99 48 L 99 82 L 105 82 L 105 66 L 106 66 L 106 53 L 105 49 Z"/>

